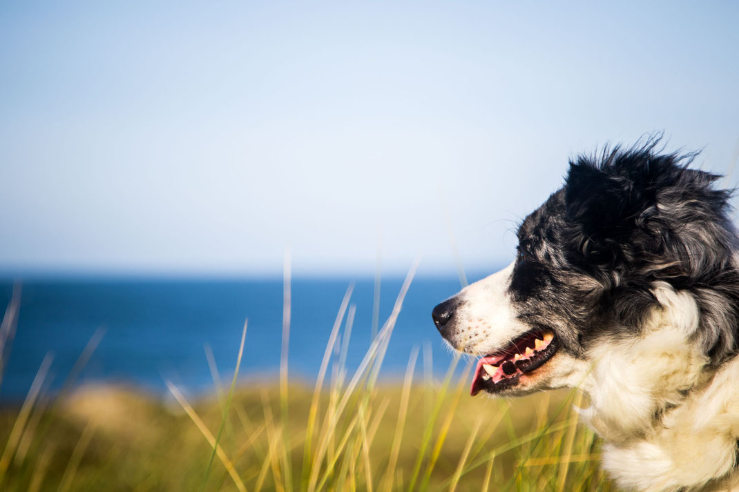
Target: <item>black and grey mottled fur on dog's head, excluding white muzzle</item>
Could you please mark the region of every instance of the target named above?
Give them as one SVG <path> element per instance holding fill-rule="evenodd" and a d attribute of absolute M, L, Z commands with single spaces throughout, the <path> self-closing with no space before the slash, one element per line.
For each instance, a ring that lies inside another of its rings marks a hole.
<path fill-rule="evenodd" d="M 689 168 L 696 154 L 664 154 L 659 141 L 571 160 L 564 187 L 520 226 L 511 297 L 524 321 L 554 329 L 573 355 L 602 330 L 637 330 L 658 305 L 655 281 L 698 300 L 696 336 L 713 363 L 737 351 L 731 192 Z"/>

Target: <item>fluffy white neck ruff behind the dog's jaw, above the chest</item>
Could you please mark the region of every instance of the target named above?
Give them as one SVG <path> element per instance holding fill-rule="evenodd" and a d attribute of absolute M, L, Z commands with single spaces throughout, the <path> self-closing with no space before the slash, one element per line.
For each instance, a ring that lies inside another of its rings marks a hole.
<path fill-rule="evenodd" d="M 649 434 L 661 414 L 681 406 L 706 379 L 709 359 L 690 343 L 700 313 L 687 292 L 655 289 L 654 310 L 639 336 L 609 338 L 588 350 L 582 416 L 606 440 Z"/>

